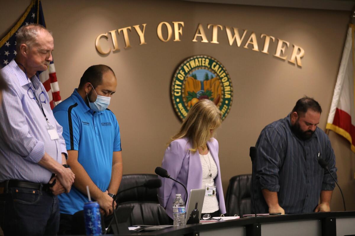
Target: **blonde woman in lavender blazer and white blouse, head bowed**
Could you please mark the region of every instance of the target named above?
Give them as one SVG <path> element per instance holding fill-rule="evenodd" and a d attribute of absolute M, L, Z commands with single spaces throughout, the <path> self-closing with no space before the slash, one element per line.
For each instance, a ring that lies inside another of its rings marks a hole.
<path fill-rule="evenodd" d="M 197 102 L 187 114 L 180 131 L 171 138 L 162 162 L 162 167 L 171 177 L 186 186 L 188 194 L 191 189 L 206 189 L 202 214 L 209 213 L 212 216 L 226 213 L 218 142 L 213 138 L 215 129 L 222 122 L 221 117 L 220 110 L 212 101 L 202 99 Z M 185 190 L 171 179 L 160 179 L 159 203 L 173 218 L 175 194 L 181 194 L 181 198 L 185 199 Z"/>

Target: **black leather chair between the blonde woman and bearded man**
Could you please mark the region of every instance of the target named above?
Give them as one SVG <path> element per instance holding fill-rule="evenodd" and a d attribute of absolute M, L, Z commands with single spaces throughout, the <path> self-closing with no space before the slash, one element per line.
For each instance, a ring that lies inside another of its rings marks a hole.
<path fill-rule="evenodd" d="M 251 213 L 251 174 L 241 174 L 229 180 L 225 206 L 228 216 Z"/>

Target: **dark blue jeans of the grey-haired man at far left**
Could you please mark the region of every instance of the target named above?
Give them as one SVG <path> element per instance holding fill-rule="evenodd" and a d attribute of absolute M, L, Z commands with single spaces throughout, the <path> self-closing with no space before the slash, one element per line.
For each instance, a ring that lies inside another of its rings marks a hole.
<path fill-rule="evenodd" d="M 48 191 L 13 187 L 0 194 L 4 235 L 57 235 L 58 197 Z"/>

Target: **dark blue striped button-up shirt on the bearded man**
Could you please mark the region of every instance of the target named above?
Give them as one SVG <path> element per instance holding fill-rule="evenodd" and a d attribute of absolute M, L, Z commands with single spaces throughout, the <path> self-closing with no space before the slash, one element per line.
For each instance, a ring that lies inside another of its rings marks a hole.
<path fill-rule="evenodd" d="M 335 179 L 335 155 L 328 136 L 316 128 L 311 139 L 301 140 L 291 131 L 290 115 L 266 126 L 256 143 L 253 164 L 257 213 L 267 213 L 262 189 L 278 192 L 286 214 L 313 212 L 322 190 L 333 190 L 334 180 L 318 164 L 318 153 Z M 252 207 L 253 209 L 253 207 Z"/>

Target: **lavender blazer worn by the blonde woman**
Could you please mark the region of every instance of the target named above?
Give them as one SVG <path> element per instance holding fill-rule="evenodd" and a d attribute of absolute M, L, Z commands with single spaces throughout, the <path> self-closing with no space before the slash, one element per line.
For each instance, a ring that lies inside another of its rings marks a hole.
<path fill-rule="evenodd" d="M 218 174 L 214 179 L 217 187 L 217 199 L 219 202 L 219 211 L 225 214 L 225 203 L 222 189 L 221 172 L 218 160 L 218 142 L 212 138 L 207 142 L 209 151 L 217 165 Z M 189 194 L 191 189 L 201 189 L 202 185 L 202 166 L 198 151 L 193 153 L 189 149 L 191 144 L 187 138 L 174 140 L 165 150 L 162 167 L 168 171 L 170 176 L 177 179 L 187 188 L 187 202 L 189 202 Z M 171 179 L 161 178 L 162 186 L 158 189 L 158 200 L 160 205 L 165 208 L 169 217 L 173 218 L 173 201 L 175 194 L 181 194 L 181 198 L 185 201 L 185 189 L 180 184 Z M 187 209 L 187 202 L 186 209 Z"/>

